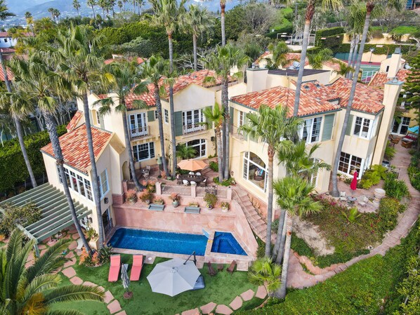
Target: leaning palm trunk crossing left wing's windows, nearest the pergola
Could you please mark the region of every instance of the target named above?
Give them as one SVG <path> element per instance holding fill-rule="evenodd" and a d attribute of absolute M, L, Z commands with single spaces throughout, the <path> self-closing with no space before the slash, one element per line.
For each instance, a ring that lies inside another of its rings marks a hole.
<path fill-rule="evenodd" d="M 44 118 L 45 118 L 46 130 L 48 130 L 48 135 L 51 140 L 51 145 L 53 146 L 53 152 L 55 155 L 55 163 L 57 163 L 58 170 L 60 171 L 60 177 L 63 184 L 64 194 L 70 208 L 70 213 L 72 214 L 74 227 L 76 227 L 77 229 L 77 233 L 79 234 L 79 237 L 81 241 L 83 242 L 84 247 L 86 248 L 86 252 L 88 252 L 89 255 L 92 255 L 93 253 L 92 253 L 91 246 L 89 246 L 88 241 L 86 241 L 86 237 L 81 231 L 80 223 L 79 223 L 79 220 L 77 219 L 76 209 L 74 208 L 72 195 L 70 194 L 69 185 L 67 184 L 67 180 L 65 177 L 65 171 L 64 171 L 64 166 L 63 166 L 64 157 L 63 157 L 63 152 L 61 151 L 60 141 L 58 139 L 58 134 L 57 134 L 57 126 L 56 126 L 54 117 L 51 113 L 44 113 Z"/>

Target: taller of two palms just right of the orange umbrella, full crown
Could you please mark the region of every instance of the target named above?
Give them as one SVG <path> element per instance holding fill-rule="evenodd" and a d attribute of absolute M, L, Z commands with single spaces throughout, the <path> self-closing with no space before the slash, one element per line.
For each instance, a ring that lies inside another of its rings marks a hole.
<path fill-rule="evenodd" d="M 229 177 L 229 136 L 230 136 L 230 113 L 229 113 L 229 92 L 228 83 L 229 77 L 238 78 L 242 76 L 242 72 L 236 72 L 230 75 L 230 71 L 233 67 L 241 69 L 244 65 L 250 62 L 250 58 L 243 53 L 239 48 L 226 45 L 216 46 L 216 53 L 211 53 L 203 59 L 204 65 L 208 69 L 214 70 L 216 77 L 209 76 L 206 81 L 209 83 L 215 83 L 216 79 L 221 80 L 222 86 L 222 107 L 223 107 L 223 164 L 219 165 L 219 168 L 223 169 L 223 177 L 227 179 Z"/>

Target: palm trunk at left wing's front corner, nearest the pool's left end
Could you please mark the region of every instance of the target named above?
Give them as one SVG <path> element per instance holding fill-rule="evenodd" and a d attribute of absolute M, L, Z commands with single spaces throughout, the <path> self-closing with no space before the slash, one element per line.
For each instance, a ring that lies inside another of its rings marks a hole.
<path fill-rule="evenodd" d="M 88 150 L 89 150 L 89 159 L 91 160 L 92 167 L 92 187 L 93 187 L 93 199 L 96 206 L 96 218 L 98 220 L 98 235 L 99 235 L 99 244 L 98 249 L 103 248 L 103 243 L 105 240 L 103 234 L 103 224 L 102 224 L 102 210 L 100 209 L 100 189 L 99 189 L 99 176 L 98 170 L 96 168 L 95 154 L 93 153 L 93 138 L 91 130 L 91 121 L 89 118 L 89 103 L 88 95 L 86 92 L 83 93 L 83 111 L 84 111 L 84 121 L 86 124 L 86 135 L 88 138 Z"/>

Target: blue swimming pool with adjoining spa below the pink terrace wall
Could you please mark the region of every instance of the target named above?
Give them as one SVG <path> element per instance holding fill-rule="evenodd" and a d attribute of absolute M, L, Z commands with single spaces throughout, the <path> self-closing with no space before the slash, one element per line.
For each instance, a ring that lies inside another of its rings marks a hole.
<path fill-rule="evenodd" d="M 198 234 L 150 231 L 145 229 L 126 229 L 115 231 L 110 239 L 114 248 L 133 250 L 147 250 L 160 253 L 174 253 L 204 256 L 206 253 L 207 237 Z M 216 232 L 211 247 L 214 253 L 247 255 L 231 233 Z"/>

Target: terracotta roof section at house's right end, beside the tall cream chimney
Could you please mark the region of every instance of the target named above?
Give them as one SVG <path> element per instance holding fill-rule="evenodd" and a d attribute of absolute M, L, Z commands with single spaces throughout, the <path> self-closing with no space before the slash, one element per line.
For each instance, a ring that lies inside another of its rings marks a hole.
<path fill-rule="evenodd" d="M 340 78 L 329 86 L 333 95 L 335 94 L 340 98 L 339 105 L 341 107 L 347 106 L 351 84 L 351 80 Z M 383 91 L 378 88 L 371 88 L 363 83 L 357 83 L 352 109 L 376 114 L 383 109 L 382 101 Z"/>

